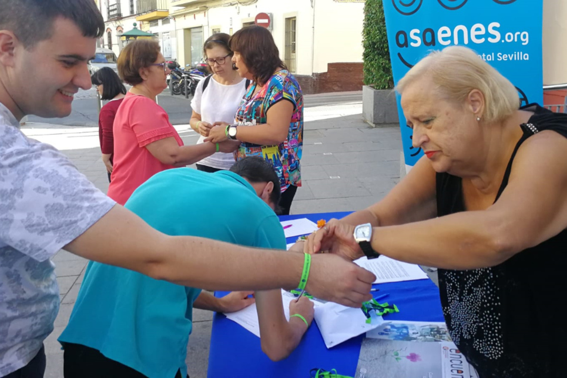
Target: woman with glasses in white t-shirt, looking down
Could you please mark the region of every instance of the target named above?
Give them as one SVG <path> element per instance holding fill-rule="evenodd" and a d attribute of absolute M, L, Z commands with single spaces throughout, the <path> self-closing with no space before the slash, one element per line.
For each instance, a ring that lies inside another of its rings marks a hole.
<path fill-rule="evenodd" d="M 229 48 L 230 36 L 226 33 L 211 35 L 203 46 L 206 62 L 213 75 L 201 80 L 195 90 L 191 108 L 193 114 L 189 124 L 201 135 L 197 144 L 209 136 L 215 122 L 234 123 L 240 100 L 246 93 L 249 80 L 243 79 L 232 67 L 232 51 Z M 216 172 L 229 169 L 234 164 L 233 154 L 216 152 L 197 163 L 197 169 Z"/>

